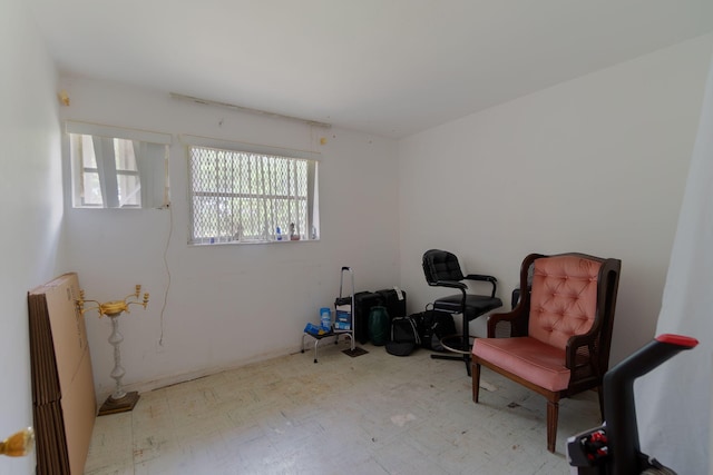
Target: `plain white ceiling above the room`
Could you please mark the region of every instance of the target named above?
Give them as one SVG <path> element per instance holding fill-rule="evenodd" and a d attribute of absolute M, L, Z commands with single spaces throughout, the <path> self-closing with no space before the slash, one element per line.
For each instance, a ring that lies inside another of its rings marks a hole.
<path fill-rule="evenodd" d="M 60 71 L 387 137 L 713 31 L 713 0 L 29 0 Z"/>

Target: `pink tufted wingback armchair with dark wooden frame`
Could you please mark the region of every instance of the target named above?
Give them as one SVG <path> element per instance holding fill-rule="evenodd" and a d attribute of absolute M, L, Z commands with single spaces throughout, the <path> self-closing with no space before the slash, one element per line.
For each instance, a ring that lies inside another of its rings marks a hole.
<path fill-rule="evenodd" d="M 599 392 L 609 366 L 622 261 L 584 254 L 531 254 L 520 268 L 522 291 L 507 314 L 492 314 L 488 337 L 472 346 L 472 400 L 485 366 L 547 398 L 547 449 L 555 452 L 559 399 Z"/>

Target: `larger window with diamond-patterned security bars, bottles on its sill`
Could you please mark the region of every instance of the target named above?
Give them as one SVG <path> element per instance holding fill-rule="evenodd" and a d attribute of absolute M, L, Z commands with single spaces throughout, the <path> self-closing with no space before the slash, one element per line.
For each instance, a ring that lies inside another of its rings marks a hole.
<path fill-rule="evenodd" d="M 188 154 L 189 244 L 318 239 L 315 160 L 197 146 Z"/>

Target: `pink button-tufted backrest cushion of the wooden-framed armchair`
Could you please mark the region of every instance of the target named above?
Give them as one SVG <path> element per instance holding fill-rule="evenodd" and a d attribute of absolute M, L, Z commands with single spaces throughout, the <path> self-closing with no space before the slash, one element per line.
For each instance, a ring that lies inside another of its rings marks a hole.
<path fill-rule="evenodd" d="M 529 335 L 565 348 L 569 337 L 589 331 L 600 267 L 599 261 L 572 255 L 535 260 Z"/>

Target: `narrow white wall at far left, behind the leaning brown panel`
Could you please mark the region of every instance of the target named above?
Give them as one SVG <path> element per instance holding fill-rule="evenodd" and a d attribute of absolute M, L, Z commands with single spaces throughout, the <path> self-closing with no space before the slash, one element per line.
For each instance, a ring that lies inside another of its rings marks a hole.
<path fill-rule="evenodd" d="M 61 271 L 56 73 L 25 2 L 0 0 L 0 439 L 32 425 L 27 293 Z M 35 473 L 35 455 L 0 474 Z"/>

